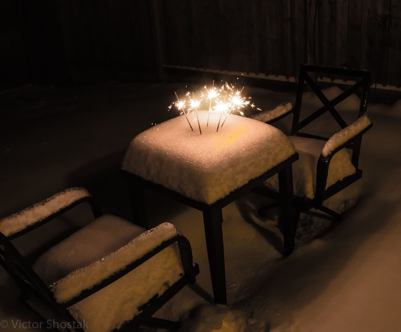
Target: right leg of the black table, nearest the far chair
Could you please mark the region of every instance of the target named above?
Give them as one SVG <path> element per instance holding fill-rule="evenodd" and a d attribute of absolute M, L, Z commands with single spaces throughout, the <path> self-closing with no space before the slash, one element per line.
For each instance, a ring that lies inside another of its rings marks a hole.
<path fill-rule="evenodd" d="M 294 188 L 292 183 L 292 165 L 278 173 L 281 213 L 279 228 L 284 237 L 284 255 L 294 251 L 296 220 L 294 218 Z"/>

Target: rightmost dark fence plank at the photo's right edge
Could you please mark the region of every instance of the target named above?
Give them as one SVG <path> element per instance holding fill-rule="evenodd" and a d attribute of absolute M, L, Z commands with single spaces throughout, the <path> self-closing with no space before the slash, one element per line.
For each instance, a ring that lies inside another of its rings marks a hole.
<path fill-rule="evenodd" d="M 390 26 L 389 26 L 389 48 L 387 55 L 388 84 L 401 86 L 401 2 L 391 2 Z"/>

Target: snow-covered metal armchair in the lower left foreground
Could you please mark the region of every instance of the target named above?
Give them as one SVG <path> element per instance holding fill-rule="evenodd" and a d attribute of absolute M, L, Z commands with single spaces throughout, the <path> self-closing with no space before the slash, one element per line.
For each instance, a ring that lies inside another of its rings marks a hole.
<path fill-rule="evenodd" d="M 83 202 L 95 219 L 28 263 L 13 240 Z M 178 328 L 177 322 L 151 316 L 199 273 L 190 243 L 174 225 L 145 230 L 102 215 L 84 188 L 2 218 L 0 264 L 19 286 L 20 299 L 44 322 L 46 308 L 58 326 L 85 332 L 132 331 L 143 324 Z"/>

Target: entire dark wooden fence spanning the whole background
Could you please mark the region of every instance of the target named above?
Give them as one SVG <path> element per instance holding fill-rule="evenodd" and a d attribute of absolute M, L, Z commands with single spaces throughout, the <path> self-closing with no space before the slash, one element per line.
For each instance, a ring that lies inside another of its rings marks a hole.
<path fill-rule="evenodd" d="M 4 0 L 0 9 L 0 42 L 16 44 L 3 48 L 4 77 L 27 65 L 39 83 L 141 79 L 164 65 L 290 77 L 311 63 L 401 86 L 399 0 Z"/>

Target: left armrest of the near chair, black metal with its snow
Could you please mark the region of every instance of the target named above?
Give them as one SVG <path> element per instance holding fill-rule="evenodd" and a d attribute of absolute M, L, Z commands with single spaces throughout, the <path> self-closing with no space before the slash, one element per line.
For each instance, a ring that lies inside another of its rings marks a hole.
<path fill-rule="evenodd" d="M 89 191 L 85 188 L 74 187 L 60 191 L 46 200 L 0 219 L 0 232 L 7 237 L 15 238 L 85 201 L 91 204 L 95 216 L 99 216 L 100 210 L 94 204 Z"/>

